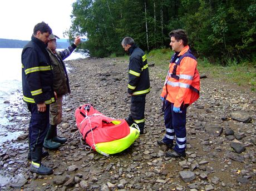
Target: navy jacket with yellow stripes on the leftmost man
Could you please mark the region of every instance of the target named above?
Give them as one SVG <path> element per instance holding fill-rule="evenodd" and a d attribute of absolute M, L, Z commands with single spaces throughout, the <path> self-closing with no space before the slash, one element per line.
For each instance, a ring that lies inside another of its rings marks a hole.
<path fill-rule="evenodd" d="M 32 36 L 31 41 L 23 48 L 21 62 L 24 102 L 55 102 L 52 88 L 53 73 L 46 44 Z"/>

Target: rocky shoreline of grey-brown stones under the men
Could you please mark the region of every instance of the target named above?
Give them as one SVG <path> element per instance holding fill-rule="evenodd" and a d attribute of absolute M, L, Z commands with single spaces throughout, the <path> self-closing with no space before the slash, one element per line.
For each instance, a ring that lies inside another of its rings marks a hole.
<path fill-rule="evenodd" d="M 7 113 L 13 123 L 6 128 L 25 133 L 0 147 L 0 190 L 256 188 L 255 93 L 208 74 L 208 78 L 201 79 L 199 100 L 188 109 L 186 158 L 167 158 L 166 148 L 156 144 L 165 133 L 160 76 L 166 74 L 157 66 L 150 67 L 152 90 L 146 97 L 146 134 L 124 152 L 109 157 L 86 150 L 77 132 L 75 109 L 91 103 L 109 117 L 125 118 L 130 107 L 126 93 L 128 62 L 124 58 L 67 61 L 72 93 L 63 99 L 63 122 L 58 132 L 68 142 L 43 159 L 54 169 L 52 175 L 29 172 L 26 104 L 21 99 L 8 103 Z"/>

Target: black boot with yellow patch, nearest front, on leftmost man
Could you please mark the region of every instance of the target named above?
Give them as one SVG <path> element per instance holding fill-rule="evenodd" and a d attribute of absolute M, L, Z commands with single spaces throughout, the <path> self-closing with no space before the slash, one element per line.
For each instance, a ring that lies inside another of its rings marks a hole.
<path fill-rule="evenodd" d="M 32 162 L 30 165 L 30 171 L 42 175 L 52 174 L 52 168 L 46 167 L 45 165 L 41 164 L 42 149 L 42 147 L 35 147 L 33 150 L 31 150 Z"/>

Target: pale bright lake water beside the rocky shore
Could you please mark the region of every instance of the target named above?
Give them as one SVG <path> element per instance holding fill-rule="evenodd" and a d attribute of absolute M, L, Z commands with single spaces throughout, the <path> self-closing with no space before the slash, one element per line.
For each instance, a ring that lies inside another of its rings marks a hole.
<path fill-rule="evenodd" d="M 58 49 L 62 51 L 63 49 Z M 21 53 L 22 48 L 0 48 L 0 143 L 17 137 L 20 133 L 9 133 L 4 126 L 11 122 L 7 118 L 8 103 L 18 103 L 22 99 L 21 79 Z M 88 55 L 73 52 L 65 61 L 86 58 Z"/>

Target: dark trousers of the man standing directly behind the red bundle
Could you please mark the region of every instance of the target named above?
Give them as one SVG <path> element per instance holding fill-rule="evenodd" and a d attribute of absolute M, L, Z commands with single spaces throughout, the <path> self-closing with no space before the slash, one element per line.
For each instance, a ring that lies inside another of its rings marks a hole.
<path fill-rule="evenodd" d="M 131 96 L 130 114 L 126 120 L 129 126 L 136 123 L 140 128 L 140 134 L 144 131 L 145 125 L 145 103 L 146 94 L 142 96 Z"/>

